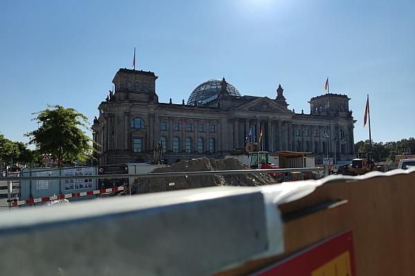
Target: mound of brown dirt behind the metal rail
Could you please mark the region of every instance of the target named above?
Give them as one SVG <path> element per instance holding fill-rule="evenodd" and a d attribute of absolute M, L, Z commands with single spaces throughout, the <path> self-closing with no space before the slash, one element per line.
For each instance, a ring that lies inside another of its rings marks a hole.
<path fill-rule="evenodd" d="M 188 161 L 180 161 L 172 166 L 156 168 L 150 173 L 215 170 L 245 170 L 245 167 L 234 158 L 210 159 L 201 157 Z M 172 185 L 173 183 L 174 185 Z M 246 175 L 206 175 L 194 177 L 155 177 L 136 179 L 133 185 L 131 185 L 131 193 L 154 193 L 163 192 L 165 190 L 183 190 L 211 186 L 262 186 L 276 183 L 275 179 L 266 173 Z"/>

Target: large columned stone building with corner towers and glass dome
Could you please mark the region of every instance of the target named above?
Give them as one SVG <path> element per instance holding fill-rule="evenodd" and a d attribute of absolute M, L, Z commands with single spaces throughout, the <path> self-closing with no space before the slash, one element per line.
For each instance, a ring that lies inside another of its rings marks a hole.
<path fill-rule="evenodd" d="M 160 103 L 156 75 L 120 69 L 115 90 L 98 106 L 93 139 L 100 145 L 99 164 L 147 162 L 163 144 L 167 164 L 201 156 L 222 158 L 261 136 L 262 150 L 309 152 L 322 157 L 353 158 L 353 120 L 347 95 L 312 97 L 310 112 L 288 109 L 284 89 L 275 99 L 241 95 L 232 84 L 211 79 L 197 86 L 181 103 Z"/>

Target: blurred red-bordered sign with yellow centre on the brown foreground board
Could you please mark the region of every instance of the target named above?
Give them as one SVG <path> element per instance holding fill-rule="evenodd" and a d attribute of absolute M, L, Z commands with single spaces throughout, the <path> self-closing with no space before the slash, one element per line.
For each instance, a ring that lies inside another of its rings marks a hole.
<path fill-rule="evenodd" d="M 353 233 L 340 233 L 255 275 L 356 276 Z"/>

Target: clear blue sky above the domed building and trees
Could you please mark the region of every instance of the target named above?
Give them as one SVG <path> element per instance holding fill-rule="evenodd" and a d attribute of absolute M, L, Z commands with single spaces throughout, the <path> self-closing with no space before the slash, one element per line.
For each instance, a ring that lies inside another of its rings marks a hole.
<path fill-rule="evenodd" d="M 347 94 L 362 128 L 371 97 L 374 141 L 415 136 L 415 1 L 0 0 L 0 132 L 17 141 L 37 127 L 31 113 L 72 107 L 92 122 L 119 68 L 159 77 L 159 100 L 181 103 L 208 79 L 289 108 Z"/>

